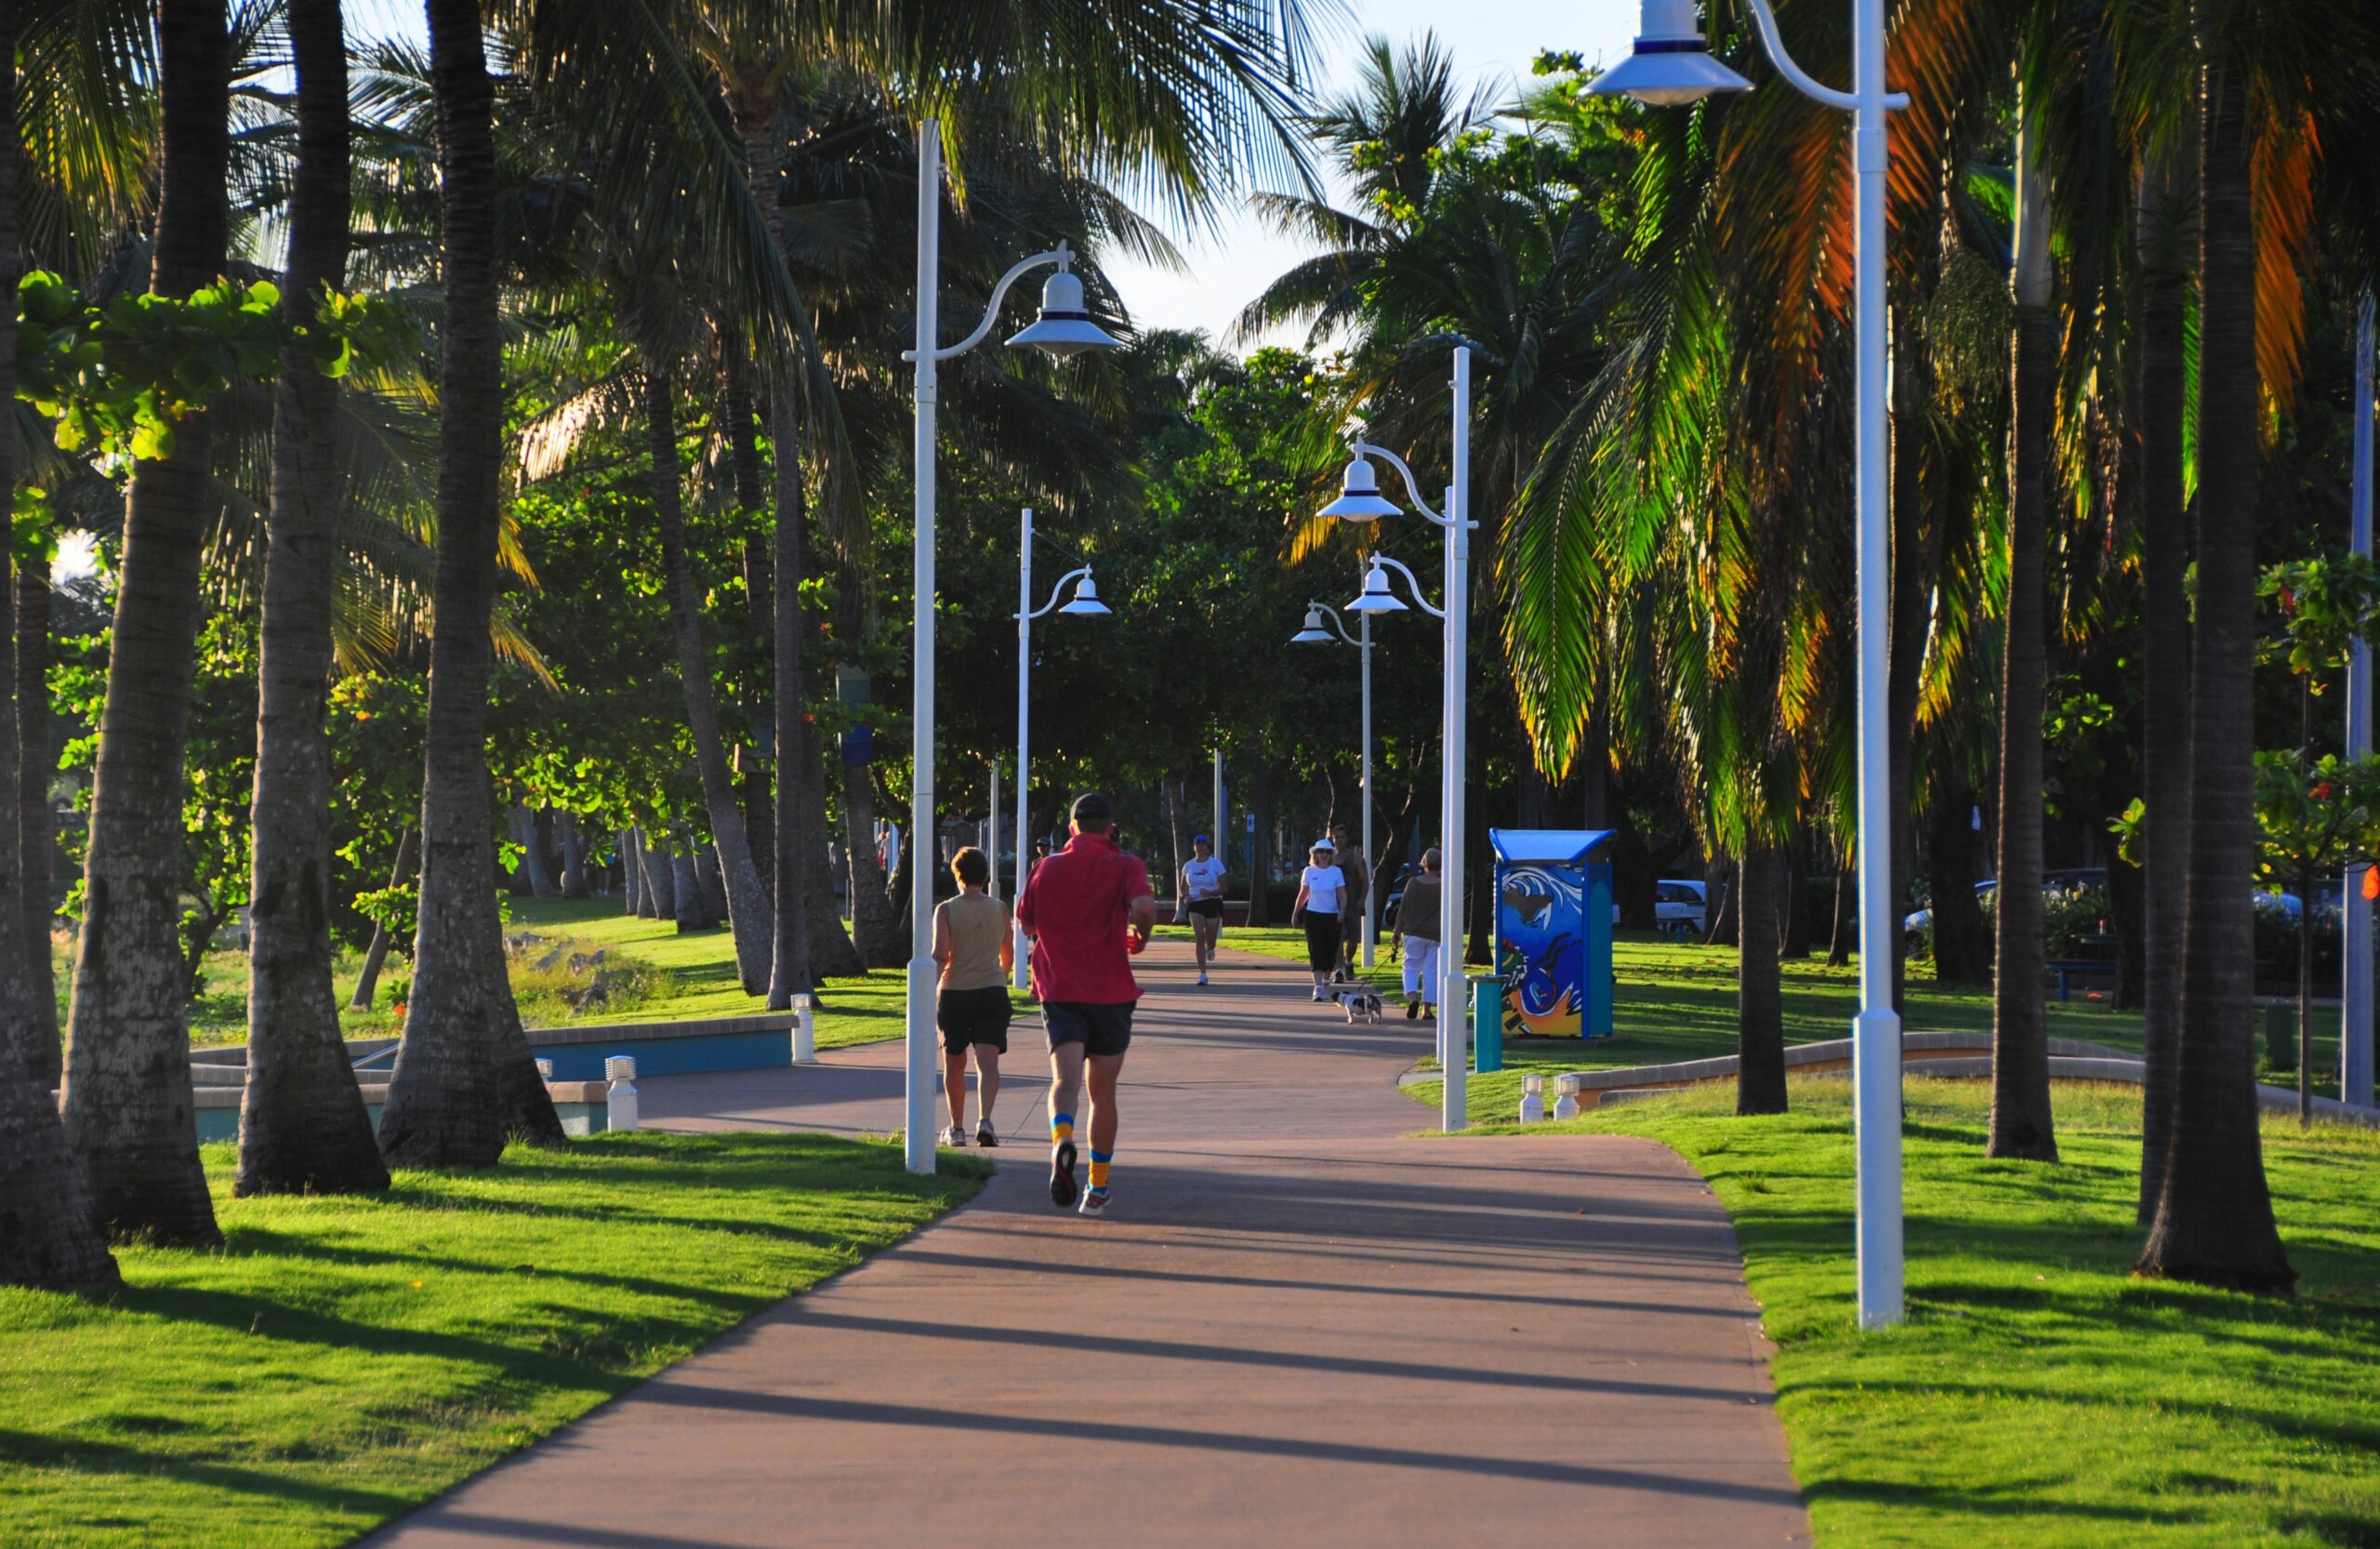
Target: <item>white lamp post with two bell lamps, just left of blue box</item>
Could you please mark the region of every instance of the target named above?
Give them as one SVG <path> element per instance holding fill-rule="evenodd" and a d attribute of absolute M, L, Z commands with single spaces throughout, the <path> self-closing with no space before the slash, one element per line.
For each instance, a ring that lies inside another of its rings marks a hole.
<path fill-rule="evenodd" d="M 1354 457 L 1347 471 L 1340 476 L 1340 497 L 1323 507 L 1323 516 L 1338 516 L 1342 521 L 1378 521 L 1383 516 L 1395 516 L 1397 507 L 1380 495 L 1380 481 L 1371 469 L 1368 459 L 1383 459 L 1388 466 L 1397 469 L 1404 478 L 1404 493 L 1411 495 L 1414 509 L 1428 521 L 1445 528 L 1447 533 L 1447 607 L 1428 609 L 1430 614 L 1447 621 L 1447 650 L 1445 650 L 1445 692 L 1442 714 L 1445 723 L 1440 728 L 1440 783 L 1438 783 L 1438 833 L 1440 849 L 1445 849 L 1447 868 L 1442 873 L 1445 888 L 1445 918 L 1452 940 L 1447 949 L 1438 954 L 1438 1049 L 1440 1064 L 1445 1066 L 1445 1087 L 1440 1097 L 1440 1125 L 1447 1133 L 1464 1128 L 1466 1118 L 1466 1066 L 1471 1064 L 1471 1037 L 1464 1030 L 1464 697 L 1466 697 L 1466 631 L 1468 631 L 1468 607 L 1466 597 L 1471 592 L 1471 345 L 1454 347 L 1454 483 L 1447 485 L 1445 512 L 1433 512 L 1430 502 L 1421 497 L 1421 483 L 1414 478 L 1414 469 L 1404 466 L 1404 459 L 1388 447 L 1376 447 L 1368 440 L 1354 443 Z M 1392 595 L 1388 595 L 1388 576 L 1380 569 L 1390 564 L 1411 578 L 1395 559 L 1385 554 L 1373 554 L 1371 569 L 1364 576 L 1364 595 L 1347 607 L 1357 614 L 1392 612 L 1402 607 Z M 1380 581 L 1380 590 L 1373 590 L 1373 578 Z M 1388 602 L 1378 602 L 1388 597 Z M 1418 600 L 1418 590 L 1416 590 Z M 1368 809 L 1368 792 L 1366 792 Z"/>

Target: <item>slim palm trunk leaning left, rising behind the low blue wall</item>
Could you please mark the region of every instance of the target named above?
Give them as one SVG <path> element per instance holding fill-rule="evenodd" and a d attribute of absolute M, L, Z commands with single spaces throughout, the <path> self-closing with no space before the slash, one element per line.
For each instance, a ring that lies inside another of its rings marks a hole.
<path fill-rule="evenodd" d="M 652 452 L 652 514 L 662 528 L 662 569 L 669 581 L 669 623 L 678 640 L 678 678 L 685 685 L 685 726 L 695 738 L 695 769 L 702 776 L 702 804 L 712 816 L 728 897 L 728 930 L 735 933 L 735 971 L 745 995 L 769 990 L 769 945 L 774 921 L 769 899 L 752 868 L 752 845 L 735 804 L 735 776 L 728 771 L 726 745 L 719 738 L 719 702 L 712 695 L 712 657 L 702 647 L 702 604 L 695 597 L 695 571 L 685 554 L 685 509 L 678 504 L 678 412 L 671 374 L 659 362 L 645 362 L 645 438 Z M 683 921 L 683 907 L 678 918 Z"/>

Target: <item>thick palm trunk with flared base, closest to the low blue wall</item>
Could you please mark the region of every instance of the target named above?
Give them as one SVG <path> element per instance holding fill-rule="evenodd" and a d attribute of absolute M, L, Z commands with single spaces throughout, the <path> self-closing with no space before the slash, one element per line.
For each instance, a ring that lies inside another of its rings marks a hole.
<path fill-rule="evenodd" d="M 438 100 L 443 376 L 438 405 L 438 573 L 421 773 L 421 907 L 414 990 L 381 1114 L 390 1166 L 493 1166 L 505 1152 L 500 1092 L 521 1078 L 497 1009 L 509 1009 L 495 914 L 488 790 L 488 616 L 495 607 L 502 474 L 502 338 L 495 262 L 495 88 L 476 0 L 428 0 Z M 521 1049 L 526 1056 L 526 1049 Z"/>

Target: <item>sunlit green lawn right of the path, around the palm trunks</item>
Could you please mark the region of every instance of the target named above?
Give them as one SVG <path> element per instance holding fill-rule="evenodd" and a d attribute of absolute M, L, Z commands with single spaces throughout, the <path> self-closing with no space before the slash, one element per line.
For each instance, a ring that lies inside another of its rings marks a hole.
<path fill-rule="evenodd" d="M 2380 1133 L 2266 1118 L 2294 1302 L 2130 1278 L 2140 1092 L 2059 1083 L 2054 1166 L 1985 1161 L 1980 1080 L 1906 1087 L 1909 1321 L 1852 1328 L 1849 1083 L 1533 1133 L 1649 1135 L 1735 1218 L 1821 1549 L 2380 1544 Z M 1459 1144 L 1459 1142 L 1457 1142 Z"/>

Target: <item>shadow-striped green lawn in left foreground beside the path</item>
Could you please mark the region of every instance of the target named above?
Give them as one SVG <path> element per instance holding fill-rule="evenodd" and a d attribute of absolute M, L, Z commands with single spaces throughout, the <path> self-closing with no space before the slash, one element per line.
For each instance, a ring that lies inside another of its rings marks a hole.
<path fill-rule="evenodd" d="M 231 1199 L 224 1252 L 0 1290 L 10 1549 L 343 1544 L 981 1187 L 826 1135 L 605 1135 L 381 1199 Z"/>

